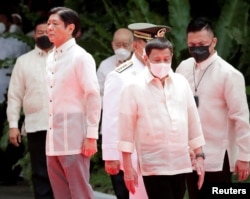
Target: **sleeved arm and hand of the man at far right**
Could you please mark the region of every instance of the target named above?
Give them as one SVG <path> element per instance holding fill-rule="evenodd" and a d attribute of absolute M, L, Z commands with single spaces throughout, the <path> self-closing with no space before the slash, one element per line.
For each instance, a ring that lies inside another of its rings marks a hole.
<path fill-rule="evenodd" d="M 233 133 L 239 147 L 239 154 L 234 173 L 238 180 L 246 180 L 249 176 L 250 161 L 250 125 L 249 108 L 245 92 L 245 80 L 240 72 L 232 73 L 226 81 L 225 98 L 229 109 L 229 118 L 234 121 Z"/>

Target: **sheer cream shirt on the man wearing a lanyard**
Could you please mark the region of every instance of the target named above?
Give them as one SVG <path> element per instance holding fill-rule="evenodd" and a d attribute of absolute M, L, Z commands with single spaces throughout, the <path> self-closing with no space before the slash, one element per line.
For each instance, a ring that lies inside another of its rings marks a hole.
<path fill-rule="evenodd" d="M 233 171 L 236 160 L 250 161 L 249 109 L 244 77 L 217 53 L 195 65 L 195 60 L 189 58 L 181 62 L 176 72 L 187 78 L 193 94 L 199 97 L 198 111 L 206 140 L 205 169 L 221 171 L 227 151 Z"/>

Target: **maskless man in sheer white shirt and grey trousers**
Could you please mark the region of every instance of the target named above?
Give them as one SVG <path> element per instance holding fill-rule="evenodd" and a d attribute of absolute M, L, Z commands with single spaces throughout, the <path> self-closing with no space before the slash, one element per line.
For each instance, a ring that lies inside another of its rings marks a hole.
<path fill-rule="evenodd" d="M 55 7 L 48 19 L 54 49 L 47 59 L 49 126 L 46 139 L 48 173 L 56 199 L 89 198 L 90 157 L 97 152 L 101 96 L 92 55 L 75 36 L 78 14 Z"/>

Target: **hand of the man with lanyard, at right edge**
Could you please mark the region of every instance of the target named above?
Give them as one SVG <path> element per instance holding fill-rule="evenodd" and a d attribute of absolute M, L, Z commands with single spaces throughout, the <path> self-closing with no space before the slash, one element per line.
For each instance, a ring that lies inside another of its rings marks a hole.
<path fill-rule="evenodd" d="M 235 164 L 234 174 L 238 175 L 238 181 L 246 180 L 249 176 L 249 162 L 237 160 Z"/>

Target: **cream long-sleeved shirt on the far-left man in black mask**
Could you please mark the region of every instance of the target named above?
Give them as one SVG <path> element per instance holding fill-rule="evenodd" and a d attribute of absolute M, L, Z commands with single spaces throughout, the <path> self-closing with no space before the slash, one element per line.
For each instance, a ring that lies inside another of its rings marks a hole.
<path fill-rule="evenodd" d="M 48 100 L 44 79 L 47 56 L 45 51 L 35 47 L 16 60 L 8 89 L 7 118 L 10 128 L 18 128 L 23 108 L 27 133 L 47 130 Z"/>

